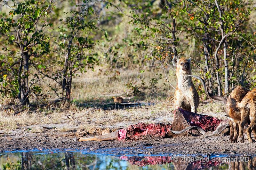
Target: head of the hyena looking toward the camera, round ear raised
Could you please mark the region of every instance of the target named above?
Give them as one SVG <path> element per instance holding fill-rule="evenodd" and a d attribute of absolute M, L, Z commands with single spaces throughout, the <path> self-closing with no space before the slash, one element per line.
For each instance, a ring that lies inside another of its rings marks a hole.
<path fill-rule="evenodd" d="M 176 67 L 177 71 L 183 71 L 183 72 L 191 72 L 191 64 L 190 64 L 190 60 L 186 59 L 186 58 L 180 58 L 178 59 L 177 57 L 173 57 L 172 59 L 172 64 L 173 66 Z"/>

